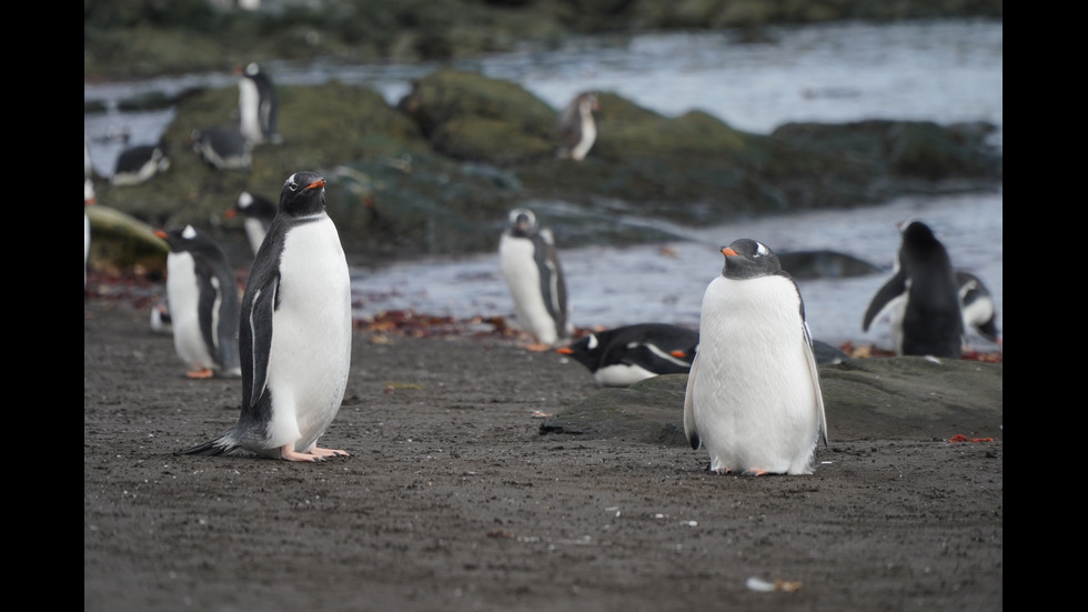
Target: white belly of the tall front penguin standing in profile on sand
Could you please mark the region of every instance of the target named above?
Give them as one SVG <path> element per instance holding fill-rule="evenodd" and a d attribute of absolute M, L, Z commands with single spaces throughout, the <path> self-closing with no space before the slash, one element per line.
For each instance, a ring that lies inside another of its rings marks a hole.
<path fill-rule="evenodd" d="M 340 410 L 351 365 L 351 280 L 332 220 L 291 230 L 280 262 L 269 387 L 272 439 L 315 445 Z"/>

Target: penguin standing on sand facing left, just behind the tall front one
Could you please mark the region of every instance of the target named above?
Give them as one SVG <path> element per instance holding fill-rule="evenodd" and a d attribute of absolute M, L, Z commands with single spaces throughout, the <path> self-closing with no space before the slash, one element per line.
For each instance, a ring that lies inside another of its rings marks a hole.
<path fill-rule="evenodd" d="M 192 225 L 157 230 L 170 245 L 167 299 L 174 350 L 191 379 L 242 375 L 238 282 L 223 249 Z"/>

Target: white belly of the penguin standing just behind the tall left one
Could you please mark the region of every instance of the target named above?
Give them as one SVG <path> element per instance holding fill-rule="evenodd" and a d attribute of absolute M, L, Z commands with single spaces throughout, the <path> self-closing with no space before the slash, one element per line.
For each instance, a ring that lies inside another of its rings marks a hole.
<path fill-rule="evenodd" d="M 167 255 L 167 299 L 178 357 L 191 370 L 213 368 L 215 361 L 200 331 L 200 292 L 195 263 L 189 253 Z"/>

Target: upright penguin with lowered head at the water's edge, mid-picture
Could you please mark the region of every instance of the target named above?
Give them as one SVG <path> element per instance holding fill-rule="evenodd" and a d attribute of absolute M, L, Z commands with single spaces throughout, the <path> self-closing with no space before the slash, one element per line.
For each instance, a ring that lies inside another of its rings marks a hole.
<path fill-rule="evenodd" d="M 514 299 L 517 324 L 533 337 L 528 348 L 548 350 L 571 338 L 574 325 L 567 318 L 566 280 L 555 241 L 532 210 L 510 211 L 498 240 L 498 262 Z"/>

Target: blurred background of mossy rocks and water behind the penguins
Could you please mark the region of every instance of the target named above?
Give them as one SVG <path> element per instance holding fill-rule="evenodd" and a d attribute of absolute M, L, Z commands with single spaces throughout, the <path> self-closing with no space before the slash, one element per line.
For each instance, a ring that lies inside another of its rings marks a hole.
<path fill-rule="evenodd" d="M 84 153 L 95 207 L 199 223 L 243 279 L 244 229 L 221 212 L 325 173 L 360 319 L 510 317 L 494 249 L 524 205 L 555 232 L 580 327 L 697 327 L 717 247 L 747 237 L 869 264 L 790 272 L 817 339 L 886 348 L 887 325 L 860 321 L 907 218 L 983 279 L 1004 330 L 1003 49 L 999 1 L 84 1 Z M 188 137 L 240 121 L 253 62 L 282 143 L 209 168 Z M 556 159 L 547 138 L 583 91 L 596 142 Z M 112 184 L 122 151 L 160 143 L 169 169 Z M 90 291 L 131 268 L 98 248 Z M 155 258 L 137 264 L 152 287 Z"/>

